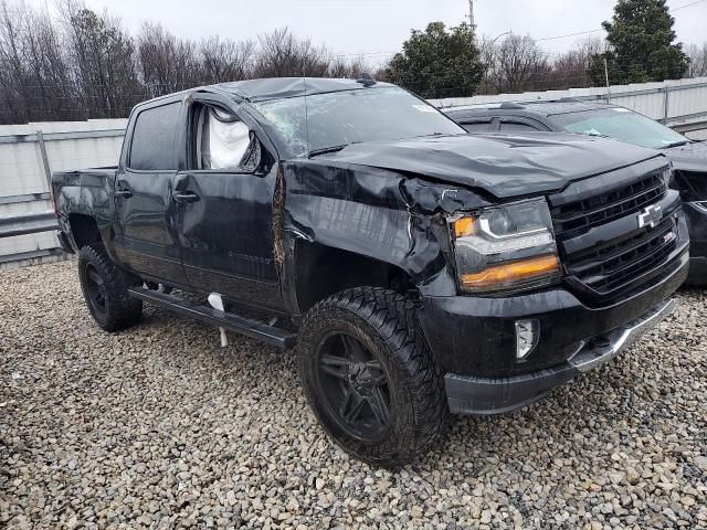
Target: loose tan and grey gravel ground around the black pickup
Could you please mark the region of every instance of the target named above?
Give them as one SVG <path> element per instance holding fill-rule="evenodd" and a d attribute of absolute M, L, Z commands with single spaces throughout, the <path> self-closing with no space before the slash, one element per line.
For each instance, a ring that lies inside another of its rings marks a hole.
<path fill-rule="evenodd" d="M 0 274 L 0 527 L 707 528 L 707 296 L 415 465 L 333 446 L 282 353 L 148 307 L 108 335 L 75 262 Z"/>

